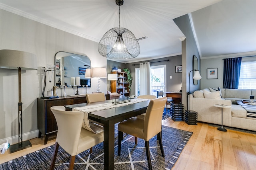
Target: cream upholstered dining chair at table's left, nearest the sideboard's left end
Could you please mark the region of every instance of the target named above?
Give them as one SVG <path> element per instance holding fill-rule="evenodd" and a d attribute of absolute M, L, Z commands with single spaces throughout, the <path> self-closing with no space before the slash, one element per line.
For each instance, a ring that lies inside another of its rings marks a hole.
<path fill-rule="evenodd" d="M 60 146 L 70 154 L 69 170 L 73 170 L 77 154 L 104 141 L 103 131 L 95 134 L 82 128 L 84 113 L 80 111 L 65 111 L 64 106 L 52 106 L 51 111 L 57 121 L 58 133 L 50 169 L 54 169 Z"/>

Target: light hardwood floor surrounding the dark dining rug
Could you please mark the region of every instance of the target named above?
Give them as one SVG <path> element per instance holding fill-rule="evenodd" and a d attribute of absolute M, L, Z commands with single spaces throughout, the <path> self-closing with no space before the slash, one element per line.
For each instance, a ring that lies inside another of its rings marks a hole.
<path fill-rule="evenodd" d="M 162 123 L 193 132 L 172 170 L 256 170 L 256 135 L 239 131 L 218 131 L 205 123 L 188 125 L 184 121 L 168 118 Z M 30 152 L 54 145 L 55 140 L 44 145 L 42 139 L 31 139 L 32 147 L 0 155 L 0 163 Z"/>

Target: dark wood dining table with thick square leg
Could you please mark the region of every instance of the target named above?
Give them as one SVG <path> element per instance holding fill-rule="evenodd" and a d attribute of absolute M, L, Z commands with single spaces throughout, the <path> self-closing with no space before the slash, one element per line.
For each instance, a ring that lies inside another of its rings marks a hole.
<path fill-rule="evenodd" d="M 111 102 L 107 100 L 106 102 Z M 94 102 L 91 104 L 100 104 L 102 102 Z M 146 112 L 149 100 L 121 107 L 105 109 L 90 112 L 88 118 L 90 120 L 103 124 L 104 127 L 104 170 L 114 170 L 114 140 L 115 140 L 115 124 L 131 117 Z M 88 103 L 66 105 L 66 110 L 72 111 L 74 107 L 86 106 Z"/>

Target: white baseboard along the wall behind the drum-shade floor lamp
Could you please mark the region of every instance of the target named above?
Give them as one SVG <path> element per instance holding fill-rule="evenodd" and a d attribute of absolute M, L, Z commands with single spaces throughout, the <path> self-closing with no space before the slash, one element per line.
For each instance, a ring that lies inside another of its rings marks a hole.
<path fill-rule="evenodd" d="M 22 141 L 28 141 L 28 140 L 36 138 L 36 137 L 38 137 L 38 130 L 32 131 L 32 132 L 28 132 L 28 133 L 23 133 Z M 18 143 L 19 142 L 18 140 L 19 140 L 18 135 L 12 136 L 12 137 L 8 137 L 8 138 L 5 138 L 5 139 L 0 139 L 0 145 L 2 143 L 6 143 L 6 141 L 8 141 L 10 143 L 10 145 L 13 145 L 13 144 Z"/>

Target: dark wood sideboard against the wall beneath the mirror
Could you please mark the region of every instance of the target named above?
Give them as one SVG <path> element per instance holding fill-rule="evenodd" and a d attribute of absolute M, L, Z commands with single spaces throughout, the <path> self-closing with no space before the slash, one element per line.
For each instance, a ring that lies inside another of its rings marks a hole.
<path fill-rule="evenodd" d="M 109 100 L 109 94 L 106 94 L 106 100 Z M 85 96 L 67 96 L 52 99 L 37 98 L 38 138 L 40 138 L 42 134 L 44 135 L 44 145 L 47 144 L 49 136 L 56 136 L 58 131 L 56 119 L 50 108 L 52 106 L 64 106 L 80 103 L 86 103 Z"/>

